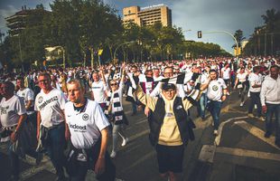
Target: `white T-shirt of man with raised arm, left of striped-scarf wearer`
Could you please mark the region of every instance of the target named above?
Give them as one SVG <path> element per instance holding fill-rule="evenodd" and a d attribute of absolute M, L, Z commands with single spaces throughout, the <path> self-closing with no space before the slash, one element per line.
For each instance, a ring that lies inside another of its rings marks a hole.
<path fill-rule="evenodd" d="M 94 96 L 94 100 L 98 103 L 106 102 L 105 90 L 107 86 L 104 85 L 103 81 L 93 81 L 91 85 L 91 91 Z"/>

